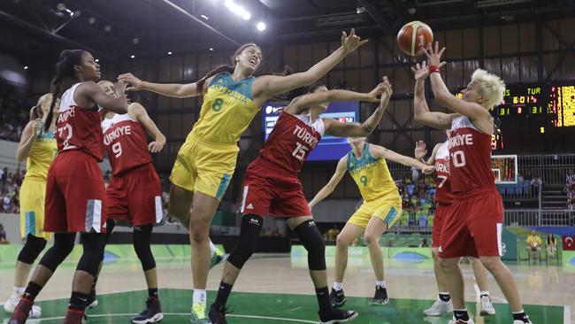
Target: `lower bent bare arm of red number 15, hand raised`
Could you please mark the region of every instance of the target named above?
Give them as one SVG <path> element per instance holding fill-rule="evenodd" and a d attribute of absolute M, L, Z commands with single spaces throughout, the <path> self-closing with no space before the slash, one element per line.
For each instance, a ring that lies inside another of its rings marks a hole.
<path fill-rule="evenodd" d="M 386 112 L 389 98 L 393 93 L 386 77 L 384 77 L 381 85 L 383 87 L 383 93 L 381 94 L 380 106 L 372 113 L 372 116 L 362 124 L 342 123 L 338 120 L 326 118 L 324 119 L 326 134 L 337 137 L 365 137 L 372 134 L 373 130 L 380 125 L 381 117 L 383 117 L 383 113 Z"/>

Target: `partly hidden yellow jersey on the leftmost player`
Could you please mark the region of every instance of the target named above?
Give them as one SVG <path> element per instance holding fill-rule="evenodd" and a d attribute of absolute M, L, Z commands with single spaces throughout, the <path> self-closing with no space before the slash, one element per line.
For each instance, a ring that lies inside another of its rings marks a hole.
<path fill-rule="evenodd" d="M 32 150 L 26 161 L 26 177 L 46 179 L 48 168 L 56 157 L 58 145 L 51 131 L 42 132 L 36 136 Z"/>

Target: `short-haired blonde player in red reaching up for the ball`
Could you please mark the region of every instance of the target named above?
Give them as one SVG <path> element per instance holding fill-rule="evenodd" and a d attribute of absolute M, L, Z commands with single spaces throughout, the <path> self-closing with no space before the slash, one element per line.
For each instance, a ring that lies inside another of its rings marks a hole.
<path fill-rule="evenodd" d="M 449 140 L 449 181 L 454 203 L 441 231 L 439 256 L 445 283 L 454 307 L 450 323 L 473 323 L 464 303 L 464 278 L 459 259 L 479 257 L 495 277 L 510 303 L 513 324 L 531 323 L 521 305 L 515 279 L 501 260 L 503 207 L 491 171 L 493 118 L 489 111 L 502 102 L 505 84 L 496 75 L 477 69 L 472 81 L 462 90 L 463 98 L 449 93 L 441 79 L 441 55 L 435 42 L 426 49 L 427 65 L 413 68 L 417 87 L 429 75 L 433 96 L 455 113 L 427 112 L 418 122 L 430 127 L 451 129 Z"/>

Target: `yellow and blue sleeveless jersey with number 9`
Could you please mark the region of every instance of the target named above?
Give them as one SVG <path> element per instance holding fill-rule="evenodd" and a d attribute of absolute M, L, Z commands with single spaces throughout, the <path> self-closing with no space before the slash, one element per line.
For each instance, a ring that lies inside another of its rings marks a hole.
<path fill-rule="evenodd" d="M 373 158 L 369 143 L 365 143 L 364 152 L 359 159 L 353 154 L 353 150 L 349 151 L 348 171 L 366 202 L 389 194 L 399 195 L 387 168 L 386 159 Z"/>

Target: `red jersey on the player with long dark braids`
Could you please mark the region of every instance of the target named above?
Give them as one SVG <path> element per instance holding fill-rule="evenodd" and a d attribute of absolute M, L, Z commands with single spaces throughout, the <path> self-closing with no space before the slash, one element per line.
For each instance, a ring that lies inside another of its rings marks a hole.
<path fill-rule="evenodd" d="M 73 96 L 80 84 L 65 90 L 60 99 L 56 123 L 58 152 L 81 150 L 100 162 L 103 160 L 102 116 L 97 108 L 88 110 L 76 104 Z"/>

